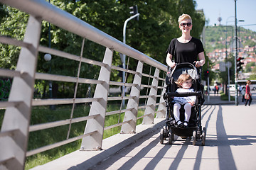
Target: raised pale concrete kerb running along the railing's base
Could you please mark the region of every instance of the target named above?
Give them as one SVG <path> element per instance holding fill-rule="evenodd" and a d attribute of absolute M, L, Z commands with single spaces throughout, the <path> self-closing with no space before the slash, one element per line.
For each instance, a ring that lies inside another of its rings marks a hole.
<path fill-rule="evenodd" d="M 32 170 L 51 170 L 51 169 L 90 169 L 90 167 L 102 162 L 102 160 L 107 159 L 112 154 L 115 154 L 134 143 L 139 138 L 144 137 L 150 132 L 159 130 L 164 125 L 164 118 L 155 119 L 154 125 L 138 125 L 136 134 L 117 134 L 112 137 L 108 137 L 102 142 L 101 151 L 75 151 L 70 154 L 65 155 L 55 159 L 52 162 L 43 164 L 41 166 L 36 166 Z"/>

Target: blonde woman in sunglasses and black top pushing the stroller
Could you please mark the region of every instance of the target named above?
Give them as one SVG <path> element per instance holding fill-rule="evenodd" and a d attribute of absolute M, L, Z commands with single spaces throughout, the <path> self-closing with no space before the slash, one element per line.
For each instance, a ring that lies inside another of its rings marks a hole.
<path fill-rule="evenodd" d="M 203 66 L 206 62 L 203 44 L 201 40 L 190 35 L 193 26 L 191 16 L 183 13 L 178 18 L 178 25 L 182 35 L 180 38 L 171 40 L 167 50 L 166 63 L 172 69 L 176 63 L 182 62 L 195 63 L 196 67 Z M 174 62 L 172 61 L 173 56 L 175 56 Z"/>

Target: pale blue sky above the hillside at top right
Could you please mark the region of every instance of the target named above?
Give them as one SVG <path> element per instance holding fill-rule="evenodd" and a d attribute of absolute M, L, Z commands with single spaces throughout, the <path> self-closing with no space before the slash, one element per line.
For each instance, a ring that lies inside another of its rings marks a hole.
<path fill-rule="evenodd" d="M 221 17 L 220 23 L 225 26 L 235 25 L 235 1 L 234 0 L 195 0 L 196 9 L 203 9 L 206 20 L 209 20 L 208 26 L 218 24 L 218 18 Z M 256 0 L 237 0 L 237 19 L 244 20 L 238 22 L 237 26 L 256 31 Z M 193 18 L 192 18 L 193 19 Z M 254 26 L 244 26 L 252 25 Z"/>

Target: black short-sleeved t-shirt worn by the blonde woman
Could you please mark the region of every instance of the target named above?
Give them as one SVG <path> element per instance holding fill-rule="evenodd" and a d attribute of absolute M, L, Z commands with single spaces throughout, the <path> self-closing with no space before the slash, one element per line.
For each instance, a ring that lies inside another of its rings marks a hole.
<path fill-rule="evenodd" d="M 177 45 L 176 52 L 174 52 L 175 45 Z M 176 63 L 190 62 L 193 64 L 193 62 L 198 60 L 198 54 L 203 51 L 203 44 L 201 40 L 197 38 L 191 38 L 191 40 L 186 43 L 178 42 L 178 40 L 174 38 L 171 40 L 166 52 L 175 56 L 173 60 Z"/>

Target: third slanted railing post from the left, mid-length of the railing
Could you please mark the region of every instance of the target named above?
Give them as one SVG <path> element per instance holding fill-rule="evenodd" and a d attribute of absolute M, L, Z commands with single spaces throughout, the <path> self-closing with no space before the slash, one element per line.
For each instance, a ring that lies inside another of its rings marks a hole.
<path fill-rule="evenodd" d="M 127 108 L 133 108 L 132 111 L 125 112 L 124 121 L 131 120 L 129 123 L 122 125 L 121 133 L 134 133 L 136 132 L 136 123 L 137 123 L 137 115 L 139 108 L 139 94 L 140 87 L 142 84 L 142 69 L 143 63 L 138 61 L 136 72 L 138 74 L 134 75 L 133 84 L 137 84 L 136 86 L 132 86 L 130 96 L 134 97 L 129 99 L 127 103 Z"/>

